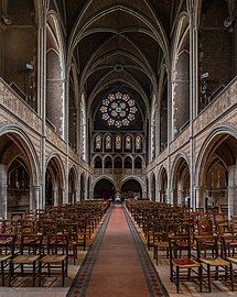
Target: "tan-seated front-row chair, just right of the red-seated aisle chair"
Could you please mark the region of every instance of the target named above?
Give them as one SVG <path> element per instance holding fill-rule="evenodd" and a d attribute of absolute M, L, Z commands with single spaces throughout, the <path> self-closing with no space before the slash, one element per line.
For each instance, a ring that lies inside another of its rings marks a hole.
<path fill-rule="evenodd" d="M 214 276 L 215 279 L 225 277 L 229 278 L 231 289 L 234 290 L 234 283 L 230 271 L 230 263 L 219 256 L 219 244 L 217 235 L 196 235 L 197 243 L 197 258 L 202 264 L 203 271 L 206 272 L 207 285 L 209 292 L 212 292 L 211 278 Z M 213 268 L 213 270 L 212 270 Z"/>

